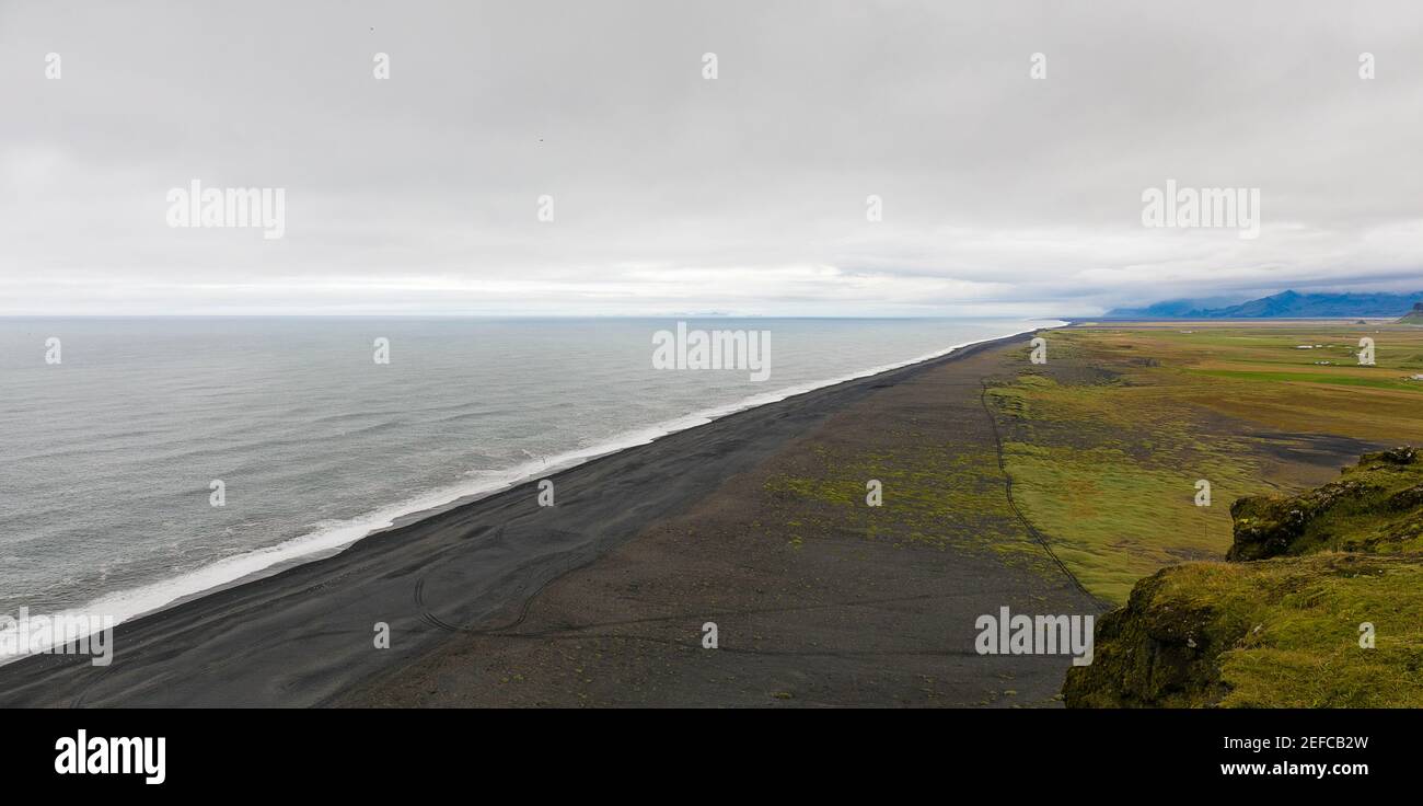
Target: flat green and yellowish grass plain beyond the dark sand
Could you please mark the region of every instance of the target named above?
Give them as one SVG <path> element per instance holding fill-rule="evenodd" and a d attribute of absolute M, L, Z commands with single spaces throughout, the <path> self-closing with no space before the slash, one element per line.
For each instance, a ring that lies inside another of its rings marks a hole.
<path fill-rule="evenodd" d="M 1047 365 L 992 389 L 1025 514 L 1094 594 L 1126 601 L 1158 568 L 1224 557 L 1229 504 L 1335 478 L 1323 451 L 1423 444 L 1423 330 L 1170 323 L 1042 333 Z M 1359 366 L 1359 339 L 1375 366 Z M 1299 349 L 1308 345 L 1309 349 Z M 1319 363 L 1329 362 L 1329 363 Z M 1197 483 L 1211 506 L 1195 506 Z"/>

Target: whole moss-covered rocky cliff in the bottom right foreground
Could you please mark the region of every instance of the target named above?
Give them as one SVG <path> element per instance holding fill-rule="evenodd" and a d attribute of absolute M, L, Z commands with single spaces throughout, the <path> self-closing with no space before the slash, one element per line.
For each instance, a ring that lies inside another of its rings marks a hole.
<path fill-rule="evenodd" d="M 1165 568 L 1099 621 L 1069 706 L 1423 706 L 1423 460 L 1231 507 L 1228 562 Z"/>

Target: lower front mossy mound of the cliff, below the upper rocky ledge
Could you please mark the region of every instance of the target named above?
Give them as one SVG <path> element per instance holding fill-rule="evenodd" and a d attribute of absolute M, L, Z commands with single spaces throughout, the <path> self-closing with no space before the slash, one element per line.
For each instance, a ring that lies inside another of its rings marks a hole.
<path fill-rule="evenodd" d="M 1079 708 L 1423 708 L 1423 561 L 1167 568 L 1103 617 L 1093 664 L 1069 671 L 1063 695 Z"/>

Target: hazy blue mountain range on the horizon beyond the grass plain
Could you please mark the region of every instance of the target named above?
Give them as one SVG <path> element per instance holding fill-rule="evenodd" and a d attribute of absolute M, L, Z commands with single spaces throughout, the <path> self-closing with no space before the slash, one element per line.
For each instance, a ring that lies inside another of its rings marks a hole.
<path fill-rule="evenodd" d="M 1286 291 L 1225 308 L 1190 306 L 1184 302 L 1160 302 L 1147 308 L 1117 308 L 1109 319 L 1339 319 L 1346 316 L 1402 316 L 1423 300 L 1423 291 L 1413 293 L 1299 293 Z"/>

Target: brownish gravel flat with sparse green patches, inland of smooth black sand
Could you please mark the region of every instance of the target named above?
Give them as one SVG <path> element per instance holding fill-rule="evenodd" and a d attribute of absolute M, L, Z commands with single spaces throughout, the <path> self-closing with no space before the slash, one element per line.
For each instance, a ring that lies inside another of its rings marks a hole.
<path fill-rule="evenodd" d="M 983 382 L 1025 369 L 1026 347 L 872 383 L 511 618 L 451 632 L 332 705 L 1060 706 L 1066 656 L 978 645 L 1003 607 L 1104 608 L 1013 510 L 993 461 Z"/>

